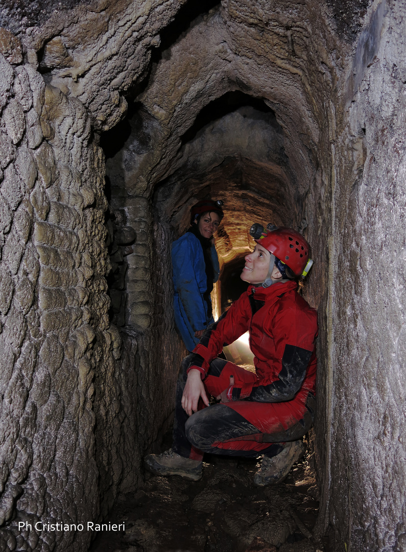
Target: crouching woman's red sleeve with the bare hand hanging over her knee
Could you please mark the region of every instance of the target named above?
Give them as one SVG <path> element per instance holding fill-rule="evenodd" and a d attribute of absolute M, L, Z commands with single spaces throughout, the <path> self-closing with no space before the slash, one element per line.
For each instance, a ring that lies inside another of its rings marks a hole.
<path fill-rule="evenodd" d="M 198 369 L 204 378 L 211 361 L 217 357 L 223 347 L 236 341 L 248 331 L 250 308 L 248 296 L 244 293 L 217 322 L 211 324 L 193 349 L 189 369 L 191 367 Z"/>

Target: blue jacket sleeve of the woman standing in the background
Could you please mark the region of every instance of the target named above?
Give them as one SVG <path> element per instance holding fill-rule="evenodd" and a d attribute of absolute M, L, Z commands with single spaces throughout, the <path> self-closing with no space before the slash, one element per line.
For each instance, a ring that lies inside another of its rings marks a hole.
<path fill-rule="evenodd" d="M 204 330 L 207 326 L 207 304 L 199 288 L 200 244 L 190 234 L 184 240 L 177 240 L 172 246 L 173 282 L 179 299 L 193 331 Z M 196 243 L 194 243 L 196 241 Z M 203 253 L 201 253 L 203 257 Z M 204 274 L 206 278 L 206 274 Z"/>

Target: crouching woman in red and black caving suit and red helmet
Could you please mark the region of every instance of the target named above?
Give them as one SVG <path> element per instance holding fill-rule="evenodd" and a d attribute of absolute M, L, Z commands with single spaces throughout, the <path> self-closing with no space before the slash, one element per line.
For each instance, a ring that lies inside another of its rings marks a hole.
<path fill-rule="evenodd" d="M 297 293 L 312 264 L 309 246 L 295 230 L 250 230 L 257 245 L 245 257 L 245 293 L 202 335 L 180 373 L 173 447 L 149 454 L 158 475 L 199 480 L 205 452 L 256 458 L 263 486 L 285 479 L 305 452 L 303 435 L 315 407 L 317 313 Z M 255 372 L 217 355 L 249 331 Z M 209 406 L 208 395 L 220 401 Z"/>

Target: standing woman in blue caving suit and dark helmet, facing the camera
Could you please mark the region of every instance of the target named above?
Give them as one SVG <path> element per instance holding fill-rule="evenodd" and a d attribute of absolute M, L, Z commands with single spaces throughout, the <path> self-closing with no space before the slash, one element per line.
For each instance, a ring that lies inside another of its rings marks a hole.
<path fill-rule="evenodd" d="M 204 199 L 190 209 L 190 229 L 172 244 L 175 323 L 193 351 L 213 323 L 210 293 L 220 267 L 213 234 L 223 218 L 222 201 Z"/>

